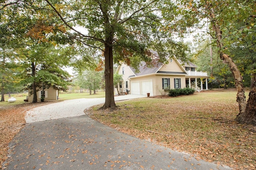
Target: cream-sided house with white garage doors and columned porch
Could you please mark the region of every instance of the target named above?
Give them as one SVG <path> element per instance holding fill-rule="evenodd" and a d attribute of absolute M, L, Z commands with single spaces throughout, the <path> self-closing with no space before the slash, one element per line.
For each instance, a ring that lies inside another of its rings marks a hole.
<path fill-rule="evenodd" d="M 187 67 L 189 68 L 188 71 L 186 71 Z M 138 70 L 137 73 L 134 68 L 125 63 L 118 66 L 116 74 L 121 74 L 123 78 L 118 86 L 120 92 L 139 95 L 150 93 L 150 96 L 160 96 L 166 94 L 164 89 L 192 88 L 191 84 L 196 82 L 198 78 L 206 79 L 207 84 L 208 78 L 206 72 L 204 74 L 196 72 L 196 65 L 192 63 L 182 65 L 176 58 L 168 58 L 167 64 L 158 63 L 152 67 L 147 67 L 145 63 L 141 63 Z M 195 88 L 200 91 L 197 82 L 195 84 Z"/>

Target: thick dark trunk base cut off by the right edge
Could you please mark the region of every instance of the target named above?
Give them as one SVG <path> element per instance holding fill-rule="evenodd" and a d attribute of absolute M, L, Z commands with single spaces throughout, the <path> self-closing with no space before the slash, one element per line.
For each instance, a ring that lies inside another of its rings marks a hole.
<path fill-rule="evenodd" d="M 240 123 L 256 125 L 256 81 L 249 93 L 249 99 L 244 113 L 239 113 L 236 121 Z"/>

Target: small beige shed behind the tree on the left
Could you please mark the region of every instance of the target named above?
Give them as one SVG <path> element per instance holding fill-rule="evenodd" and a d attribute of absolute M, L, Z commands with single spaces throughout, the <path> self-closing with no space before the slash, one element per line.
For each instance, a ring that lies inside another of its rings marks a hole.
<path fill-rule="evenodd" d="M 36 93 L 37 96 L 37 101 L 40 102 L 41 101 L 41 96 L 44 95 L 44 101 L 49 101 L 49 100 L 58 100 L 58 90 L 55 90 L 54 88 L 50 87 L 50 88 L 46 88 L 44 89 L 44 91 L 40 90 L 40 89 L 36 89 L 38 90 Z M 33 94 L 30 94 L 32 90 L 28 91 L 28 102 L 32 102 L 33 101 Z"/>

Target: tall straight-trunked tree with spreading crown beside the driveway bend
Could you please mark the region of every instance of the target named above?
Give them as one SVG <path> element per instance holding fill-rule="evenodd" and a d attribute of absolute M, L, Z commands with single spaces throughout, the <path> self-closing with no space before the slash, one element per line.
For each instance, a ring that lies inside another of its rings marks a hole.
<path fill-rule="evenodd" d="M 116 107 L 114 101 L 113 63 L 125 61 L 136 68 L 140 61 L 148 64 L 164 62 L 164 43 L 175 44 L 163 27 L 174 27 L 176 23 L 164 21 L 174 19 L 176 6 L 169 0 L 45 0 L 60 20 L 73 32 L 74 42 L 93 47 L 104 55 L 105 104 Z M 68 7 L 68 8 L 66 8 Z M 52 14 L 51 16 L 56 16 Z M 73 26 L 82 27 L 83 32 Z M 175 27 L 176 30 L 185 27 Z M 177 44 L 182 49 L 182 44 Z M 158 51 L 159 58 L 148 49 Z M 177 53 L 178 55 L 179 53 Z"/>

